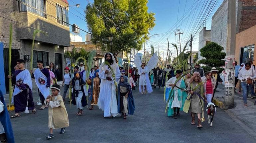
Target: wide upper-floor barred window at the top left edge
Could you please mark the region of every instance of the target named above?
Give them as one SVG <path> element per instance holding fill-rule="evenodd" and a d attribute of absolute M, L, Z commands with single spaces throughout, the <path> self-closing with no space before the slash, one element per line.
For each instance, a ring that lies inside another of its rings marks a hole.
<path fill-rule="evenodd" d="M 23 4 L 21 2 L 26 3 L 29 6 L 27 6 L 26 4 Z M 44 12 L 46 12 L 45 0 L 21 0 L 21 2 L 19 2 L 19 11 L 20 12 L 30 11 L 39 16 L 46 18 L 46 14 L 44 13 Z"/>

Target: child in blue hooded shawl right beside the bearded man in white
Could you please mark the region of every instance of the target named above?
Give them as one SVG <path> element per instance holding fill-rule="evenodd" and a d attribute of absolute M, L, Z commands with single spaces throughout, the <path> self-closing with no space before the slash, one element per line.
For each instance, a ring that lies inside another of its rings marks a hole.
<path fill-rule="evenodd" d="M 132 95 L 132 88 L 128 83 L 126 76 L 121 76 L 118 84 L 118 113 L 122 113 L 121 117 L 126 119 L 126 113 L 133 115 L 135 106 Z"/>

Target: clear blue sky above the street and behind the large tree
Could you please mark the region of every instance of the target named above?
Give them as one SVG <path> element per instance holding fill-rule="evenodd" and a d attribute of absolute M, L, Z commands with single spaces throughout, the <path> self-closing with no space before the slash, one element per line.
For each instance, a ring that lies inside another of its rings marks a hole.
<path fill-rule="evenodd" d="M 93 0 L 89 1 L 93 3 Z M 68 0 L 68 2 L 69 5 L 80 4 L 80 8 L 69 7 L 69 23 L 77 24 L 81 29 L 88 31 L 87 24 L 84 21 L 84 9 L 88 4 L 87 0 Z M 179 37 L 178 35 L 175 36 L 175 30 L 180 29 L 180 32 L 183 32 L 180 35 L 181 47 L 184 47 L 191 34 L 195 34 L 192 51 L 198 51 L 199 31 L 202 27 L 206 27 L 207 30 L 211 29 L 211 17 L 222 2 L 223 0 L 148 0 L 148 12 L 155 13 L 156 18 L 156 25 L 150 31 L 150 36 L 159 35 L 152 36 L 147 41 L 146 50 L 150 51 L 149 46 L 151 44 L 158 50 L 159 43 L 160 55 L 164 54 L 166 56 L 167 38 L 169 43 L 176 43 L 179 46 Z M 85 32 L 81 32 L 80 35 L 85 41 Z M 172 53 L 176 53 L 171 44 L 169 49 Z M 141 52 L 143 52 L 143 49 Z"/>

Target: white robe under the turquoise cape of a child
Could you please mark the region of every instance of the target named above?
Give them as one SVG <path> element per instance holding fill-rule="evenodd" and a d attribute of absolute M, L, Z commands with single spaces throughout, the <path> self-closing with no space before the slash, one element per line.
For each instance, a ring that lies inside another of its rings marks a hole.
<path fill-rule="evenodd" d="M 171 86 L 169 86 L 170 84 L 174 84 L 175 81 L 177 80 L 176 77 L 172 77 L 171 79 L 169 79 L 167 82 L 166 82 L 166 87 L 167 88 L 170 88 Z M 177 83 L 176 83 L 176 86 L 180 87 L 181 86 L 181 80 L 179 80 Z M 172 87 L 171 87 L 172 88 Z M 182 100 L 179 101 L 178 99 L 178 88 L 177 87 L 174 87 L 173 89 L 173 92 L 174 92 L 174 100 L 172 102 L 172 107 L 182 107 Z M 170 103 L 168 103 L 170 104 Z"/>

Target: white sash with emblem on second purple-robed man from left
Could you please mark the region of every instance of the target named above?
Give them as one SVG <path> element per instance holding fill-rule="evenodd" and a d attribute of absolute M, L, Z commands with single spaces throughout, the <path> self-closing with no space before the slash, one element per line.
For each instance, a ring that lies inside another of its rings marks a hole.
<path fill-rule="evenodd" d="M 42 73 L 42 71 L 38 68 L 35 70 L 35 82 L 37 84 L 38 89 L 42 93 L 42 95 L 47 98 L 50 95 L 50 89 L 47 86 L 47 77 Z"/>

